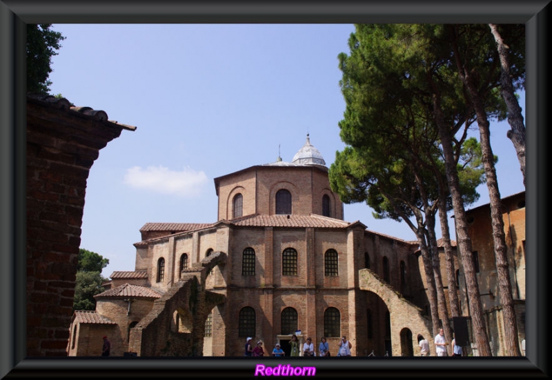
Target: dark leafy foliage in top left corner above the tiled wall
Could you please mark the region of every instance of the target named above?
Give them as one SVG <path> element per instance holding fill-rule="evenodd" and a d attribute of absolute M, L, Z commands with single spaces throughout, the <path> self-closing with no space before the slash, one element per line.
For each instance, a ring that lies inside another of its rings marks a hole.
<path fill-rule="evenodd" d="M 48 94 L 52 72 L 52 56 L 65 39 L 60 32 L 51 30 L 51 24 L 27 24 L 27 92 Z"/>

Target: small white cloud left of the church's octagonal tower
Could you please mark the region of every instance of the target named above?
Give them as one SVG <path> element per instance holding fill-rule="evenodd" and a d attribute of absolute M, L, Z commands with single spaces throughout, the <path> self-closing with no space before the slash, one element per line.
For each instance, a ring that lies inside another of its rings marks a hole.
<path fill-rule="evenodd" d="M 126 171 L 124 178 L 124 183 L 132 188 L 182 197 L 193 197 L 199 194 L 206 182 L 207 176 L 204 172 L 196 172 L 190 168 L 176 172 L 163 166 L 148 166 L 146 169 L 135 166 Z"/>

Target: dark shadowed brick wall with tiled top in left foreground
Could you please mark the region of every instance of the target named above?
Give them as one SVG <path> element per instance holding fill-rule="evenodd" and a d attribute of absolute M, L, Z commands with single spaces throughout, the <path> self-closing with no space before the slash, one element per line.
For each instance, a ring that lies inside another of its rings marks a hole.
<path fill-rule="evenodd" d="M 82 111 L 82 110 L 81 110 Z M 27 101 L 27 354 L 65 356 L 88 172 L 124 126 L 66 99 Z"/>

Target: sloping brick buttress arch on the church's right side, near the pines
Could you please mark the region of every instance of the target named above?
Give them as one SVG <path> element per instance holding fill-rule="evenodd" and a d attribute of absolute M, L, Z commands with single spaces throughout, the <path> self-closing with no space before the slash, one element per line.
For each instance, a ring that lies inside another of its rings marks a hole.
<path fill-rule="evenodd" d="M 368 290 L 380 297 L 387 306 L 391 316 L 391 346 L 393 352 L 402 352 L 401 332 L 407 328 L 412 332 L 414 352 L 417 347 L 417 334 L 433 337 L 431 320 L 423 314 L 422 309 L 402 298 L 393 286 L 389 285 L 370 269 L 359 270 L 359 288 Z M 435 346 L 430 345 L 435 355 Z"/>

